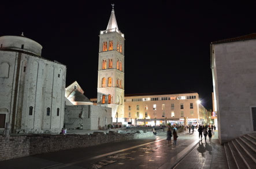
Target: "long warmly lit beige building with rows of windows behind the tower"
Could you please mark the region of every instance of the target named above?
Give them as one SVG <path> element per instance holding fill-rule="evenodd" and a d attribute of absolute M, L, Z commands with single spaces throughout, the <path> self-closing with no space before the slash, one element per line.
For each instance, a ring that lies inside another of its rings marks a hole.
<path fill-rule="evenodd" d="M 181 125 L 207 123 L 207 110 L 198 103 L 199 95 L 191 93 L 149 93 L 125 95 L 124 122 L 126 125 Z M 91 99 L 97 104 L 97 99 Z"/>

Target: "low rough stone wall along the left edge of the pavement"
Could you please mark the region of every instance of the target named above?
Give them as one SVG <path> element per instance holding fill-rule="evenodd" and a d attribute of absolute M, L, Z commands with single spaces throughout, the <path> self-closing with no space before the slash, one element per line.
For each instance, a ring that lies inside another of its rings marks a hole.
<path fill-rule="evenodd" d="M 109 134 L 95 133 L 90 135 L 33 134 L 7 137 L 0 135 L 0 161 L 64 149 L 89 147 L 106 142 L 125 141 L 150 136 L 153 136 L 152 132 L 140 134 L 118 134 L 109 132 Z"/>

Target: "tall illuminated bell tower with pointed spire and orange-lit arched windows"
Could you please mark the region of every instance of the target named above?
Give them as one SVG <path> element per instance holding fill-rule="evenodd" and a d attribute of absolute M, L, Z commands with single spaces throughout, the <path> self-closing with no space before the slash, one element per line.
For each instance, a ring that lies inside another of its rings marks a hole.
<path fill-rule="evenodd" d="M 124 122 L 124 34 L 112 6 L 107 29 L 99 33 L 97 103 L 112 107 L 113 122 Z"/>

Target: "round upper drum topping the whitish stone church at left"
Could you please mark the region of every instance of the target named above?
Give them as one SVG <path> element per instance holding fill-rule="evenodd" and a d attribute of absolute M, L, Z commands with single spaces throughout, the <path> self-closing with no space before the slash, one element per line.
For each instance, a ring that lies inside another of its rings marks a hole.
<path fill-rule="evenodd" d="M 21 51 L 41 57 L 42 46 L 24 36 L 1 36 L 0 50 Z"/>

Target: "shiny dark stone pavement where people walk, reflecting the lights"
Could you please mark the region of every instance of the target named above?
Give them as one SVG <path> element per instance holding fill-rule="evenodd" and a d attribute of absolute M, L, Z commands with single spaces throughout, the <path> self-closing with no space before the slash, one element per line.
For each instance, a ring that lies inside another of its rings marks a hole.
<path fill-rule="evenodd" d="M 207 144 L 205 141 L 198 144 L 198 132 L 194 134 L 184 132 L 179 133 L 176 147 L 168 146 L 166 136 L 157 136 L 157 140 L 136 139 L 21 157 L 0 162 L 0 166 L 1 168 L 94 169 L 175 166 L 176 168 L 227 168 L 224 147 L 218 143 L 216 135 L 216 138 L 212 138 L 212 142 Z M 181 160 L 183 156 L 185 158 Z"/>

